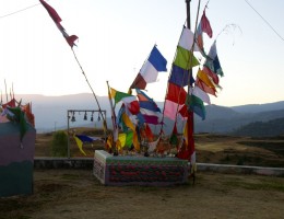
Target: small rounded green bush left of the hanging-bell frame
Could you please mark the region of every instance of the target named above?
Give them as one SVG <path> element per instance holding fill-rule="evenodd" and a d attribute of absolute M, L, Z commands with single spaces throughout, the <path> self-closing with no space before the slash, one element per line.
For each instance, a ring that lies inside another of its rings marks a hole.
<path fill-rule="evenodd" d="M 62 130 L 56 131 L 52 136 L 51 151 L 54 157 L 67 157 L 67 134 Z"/>

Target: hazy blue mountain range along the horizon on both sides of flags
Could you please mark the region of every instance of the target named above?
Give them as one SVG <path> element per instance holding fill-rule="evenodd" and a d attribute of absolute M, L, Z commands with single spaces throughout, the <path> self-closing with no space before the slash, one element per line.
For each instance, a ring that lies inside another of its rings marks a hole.
<path fill-rule="evenodd" d="M 45 96 L 38 94 L 15 95 L 17 100 L 22 99 L 23 103 L 32 102 L 33 113 L 35 114 L 35 124 L 38 132 L 50 131 L 55 129 L 66 129 L 68 126 L 68 110 L 98 110 L 95 97 L 92 93 L 81 93 L 61 96 Z M 107 112 L 107 124 L 111 126 L 110 105 L 107 96 L 97 96 L 100 110 Z M 157 102 L 163 108 L 164 103 Z M 116 107 L 119 108 L 119 107 Z M 255 122 L 269 122 L 284 117 L 284 101 L 269 104 L 253 104 L 234 107 L 218 105 L 208 105 L 206 118 L 201 120 L 194 115 L 194 132 L 220 132 L 228 134 L 237 130 L 239 127 Z M 76 122 L 69 123 L 70 127 L 75 126 L 102 126 L 98 122 L 98 113 L 94 114 L 94 122 L 83 119 L 84 113 L 76 113 Z M 173 122 L 165 119 L 165 132 L 169 134 L 173 128 Z M 154 127 L 158 131 L 159 127 Z"/>

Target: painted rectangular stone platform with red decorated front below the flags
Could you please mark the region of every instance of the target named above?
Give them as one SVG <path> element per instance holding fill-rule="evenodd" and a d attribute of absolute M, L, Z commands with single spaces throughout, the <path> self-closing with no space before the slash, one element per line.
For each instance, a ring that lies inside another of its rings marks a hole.
<path fill-rule="evenodd" d="M 104 185 L 167 186 L 188 182 L 188 161 L 177 158 L 94 154 L 93 174 Z"/>

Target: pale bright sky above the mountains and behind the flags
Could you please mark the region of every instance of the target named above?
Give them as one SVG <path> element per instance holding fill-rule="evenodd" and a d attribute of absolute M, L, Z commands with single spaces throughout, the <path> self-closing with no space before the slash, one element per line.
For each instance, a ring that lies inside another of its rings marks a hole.
<path fill-rule="evenodd" d="M 97 96 L 107 83 L 127 92 L 156 44 L 167 59 L 167 72 L 147 84 L 155 101 L 165 97 L 170 65 L 186 22 L 185 0 L 49 0 L 62 26 L 79 41 L 74 54 Z M 199 19 L 206 1 L 201 1 Z M 259 14 L 253 11 L 249 2 Z M 198 0 L 191 0 L 191 27 Z M 284 1 L 210 0 L 206 16 L 216 39 L 224 77 L 211 103 L 223 106 L 284 100 Z M 227 27 L 226 27 L 227 26 Z M 274 31 L 273 31 L 273 30 Z M 45 8 L 37 0 L 0 0 L 0 90 L 16 94 L 67 95 L 91 89 Z M 276 32 L 276 33 L 275 33 Z M 201 58 L 200 54 L 196 54 Z M 193 76 L 198 68 L 193 69 Z M 75 101 L 75 100 L 74 100 Z"/>

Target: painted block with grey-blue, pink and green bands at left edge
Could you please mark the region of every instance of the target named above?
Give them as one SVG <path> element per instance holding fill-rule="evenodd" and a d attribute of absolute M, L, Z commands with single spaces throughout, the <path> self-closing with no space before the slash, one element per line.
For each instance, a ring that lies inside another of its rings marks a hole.
<path fill-rule="evenodd" d="M 21 142 L 17 123 L 0 123 L 0 197 L 33 194 L 36 130 L 28 125 Z"/>

